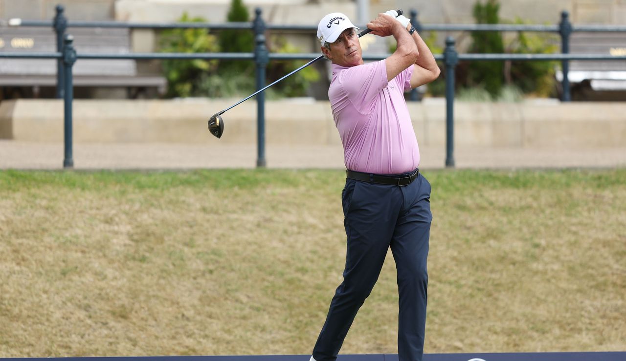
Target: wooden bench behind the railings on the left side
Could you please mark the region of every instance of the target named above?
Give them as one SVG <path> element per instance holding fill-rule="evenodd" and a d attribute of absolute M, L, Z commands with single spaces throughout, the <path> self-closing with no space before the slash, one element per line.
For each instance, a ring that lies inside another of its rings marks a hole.
<path fill-rule="evenodd" d="M 130 53 L 130 31 L 108 28 L 70 28 L 78 53 Z M 55 52 L 56 34 L 51 28 L 0 28 L 1 52 Z M 131 59 L 78 59 L 73 66 L 76 87 L 126 88 L 133 98 L 138 91 L 155 88 L 165 93 L 167 80 L 160 75 L 140 74 Z M 40 87 L 56 86 L 55 59 L 0 58 L 0 87 L 32 87 L 37 96 Z"/>

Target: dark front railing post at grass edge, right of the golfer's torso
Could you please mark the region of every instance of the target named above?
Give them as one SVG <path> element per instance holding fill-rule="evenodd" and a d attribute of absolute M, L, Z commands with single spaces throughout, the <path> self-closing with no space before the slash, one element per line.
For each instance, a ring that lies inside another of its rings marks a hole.
<path fill-rule="evenodd" d="M 446 38 L 443 52 L 446 64 L 446 167 L 454 167 L 454 77 L 459 56 L 454 48 L 454 38 Z"/>

